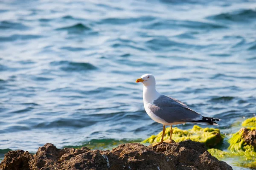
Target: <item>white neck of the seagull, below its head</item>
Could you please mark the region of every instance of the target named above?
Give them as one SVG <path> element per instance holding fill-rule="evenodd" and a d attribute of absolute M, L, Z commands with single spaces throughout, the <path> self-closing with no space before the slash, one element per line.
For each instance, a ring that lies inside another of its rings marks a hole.
<path fill-rule="evenodd" d="M 153 103 L 161 94 L 156 91 L 156 85 L 143 85 L 143 102 Z"/>

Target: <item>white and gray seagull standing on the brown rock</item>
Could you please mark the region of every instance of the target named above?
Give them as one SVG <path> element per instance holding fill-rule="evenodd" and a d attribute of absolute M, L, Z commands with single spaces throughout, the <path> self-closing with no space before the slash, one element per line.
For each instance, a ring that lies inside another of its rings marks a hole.
<path fill-rule="evenodd" d="M 148 116 L 157 123 L 163 124 L 163 134 L 160 142 L 153 143 L 157 146 L 163 142 L 172 143 L 172 125 L 183 123 L 197 123 L 200 125 L 218 125 L 221 119 L 204 117 L 193 111 L 183 102 L 160 94 L 156 91 L 156 80 L 151 74 L 144 74 L 136 82 L 143 84 L 143 103 Z M 163 141 L 165 126 L 170 125 L 170 139 Z"/>

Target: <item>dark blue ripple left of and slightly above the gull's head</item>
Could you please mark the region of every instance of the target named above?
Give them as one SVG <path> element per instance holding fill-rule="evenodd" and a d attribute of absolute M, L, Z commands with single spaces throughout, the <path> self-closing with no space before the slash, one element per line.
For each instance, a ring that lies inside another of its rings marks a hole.
<path fill-rule="evenodd" d="M 95 70 L 97 67 L 90 64 L 89 62 L 70 62 L 70 61 L 54 61 L 51 62 L 50 65 L 61 66 L 61 70 L 63 71 L 89 71 Z"/>

